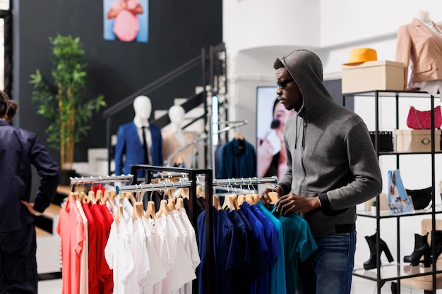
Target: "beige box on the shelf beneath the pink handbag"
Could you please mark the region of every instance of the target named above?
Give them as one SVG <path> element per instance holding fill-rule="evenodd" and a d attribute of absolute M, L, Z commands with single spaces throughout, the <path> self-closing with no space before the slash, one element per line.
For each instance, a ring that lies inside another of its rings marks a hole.
<path fill-rule="evenodd" d="M 434 151 L 441 151 L 441 130 L 434 130 Z M 431 130 L 396 130 L 397 152 L 431 152 Z"/>

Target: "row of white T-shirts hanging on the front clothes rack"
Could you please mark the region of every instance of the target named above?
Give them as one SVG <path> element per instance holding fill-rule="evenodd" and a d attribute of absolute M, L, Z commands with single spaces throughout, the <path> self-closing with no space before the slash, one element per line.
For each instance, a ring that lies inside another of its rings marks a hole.
<path fill-rule="evenodd" d="M 104 248 L 106 261 L 114 269 L 114 293 L 191 294 L 200 260 L 185 209 L 173 209 L 156 220 L 133 219 L 127 216 L 135 208 L 124 199 L 119 205 L 132 213 L 115 219 Z"/>

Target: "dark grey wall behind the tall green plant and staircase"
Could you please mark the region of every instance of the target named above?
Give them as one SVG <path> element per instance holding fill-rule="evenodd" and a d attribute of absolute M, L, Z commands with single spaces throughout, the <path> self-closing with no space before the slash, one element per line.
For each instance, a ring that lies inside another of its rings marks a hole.
<path fill-rule="evenodd" d="M 47 121 L 35 113 L 29 76 L 36 68 L 50 81 L 49 36 L 57 33 L 80 37 L 88 62 L 87 97 L 104 94 L 108 106 L 169 73 L 208 48 L 222 42 L 222 0 L 149 0 L 149 42 L 103 39 L 102 0 L 14 0 L 13 99 L 20 102 L 18 123 L 44 142 Z M 189 97 L 201 85 L 201 69 L 172 80 L 166 87 L 146 93 L 153 110 L 168 109 L 175 97 Z M 132 105 L 112 120 L 131 121 Z M 153 115 L 152 117 L 153 118 Z M 75 161 L 87 160 L 87 149 L 106 147 L 105 120 L 97 114 L 88 137 L 76 145 Z M 56 150 L 51 150 L 59 160 Z"/>

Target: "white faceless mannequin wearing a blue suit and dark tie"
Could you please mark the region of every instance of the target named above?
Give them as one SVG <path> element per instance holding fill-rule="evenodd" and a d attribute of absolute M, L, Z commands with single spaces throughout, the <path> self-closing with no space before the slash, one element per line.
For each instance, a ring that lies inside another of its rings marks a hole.
<path fill-rule="evenodd" d="M 155 125 L 150 125 L 148 119 L 152 110 L 150 99 L 138 96 L 133 101 L 135 117 L 131 123 L 120 125 L 117 132 L 117 145 L 115 146 L 115 174 L 131 173 L 133 164 L 150 164 L 162 166 L 162 137 L 161 130 Z M 148 141 L 148 160 L 144 158 L 142 126 L 148 127 L 145 132 Z M 138 171 L 138 178 L 144 176 L 143 171 Z"/>

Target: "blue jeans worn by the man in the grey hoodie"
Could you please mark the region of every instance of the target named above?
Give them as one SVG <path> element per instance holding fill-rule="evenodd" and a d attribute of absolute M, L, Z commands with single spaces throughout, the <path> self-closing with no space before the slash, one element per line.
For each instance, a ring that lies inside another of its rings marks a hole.
<path fill-rule="evenodd" d="M 298 264 L 298 294 L 350 294 L 356 232 L 316 238 L 318 250 Z"/>

